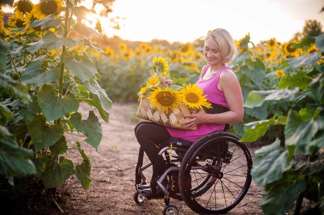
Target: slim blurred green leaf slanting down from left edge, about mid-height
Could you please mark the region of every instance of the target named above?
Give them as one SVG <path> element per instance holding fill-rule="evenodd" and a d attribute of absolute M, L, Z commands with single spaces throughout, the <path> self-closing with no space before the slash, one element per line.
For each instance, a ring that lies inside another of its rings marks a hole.
<path fill-rule="evenodd" d="M 31 102 L 31 98 L 28 93 L 28 86 L 25 84 L 21 84 L 18 81 L 12 80 L 6 75 L 0 74 L 0 87 L 1 90 L 5 91 L 9 95 L 14 93 L 25 102 Z"/>

